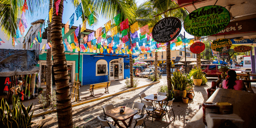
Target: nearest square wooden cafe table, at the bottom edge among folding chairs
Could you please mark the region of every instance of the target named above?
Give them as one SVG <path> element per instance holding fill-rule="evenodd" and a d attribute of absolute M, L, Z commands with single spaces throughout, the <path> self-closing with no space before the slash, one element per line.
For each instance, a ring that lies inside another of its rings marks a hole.
<path fill-rule="evenodd" d="M 107 116 L 111 117 L 114 120 L 115 124 L 118 125 L 119 128 L 124 128 L 124 127 L 120 126 L 118 121 L 122 121 L 122 123 L 125 125 L 125 127 L 128 128 L 131 126 L 132 119 L 133 119 L 134 115 L 136 115 L 137 113 L 138 113 L 137 110 L 131 109 L 128 107 L 125 107 L 124 113 L 120 113 L 120 107 L 116 107 L 109 111 L 106 111 L 105 114 Z M 127 125 L 125 120 L 127 120 L 129 118 L 130 118 L 130 121 L 129 121 L 129 124 Z"/>

